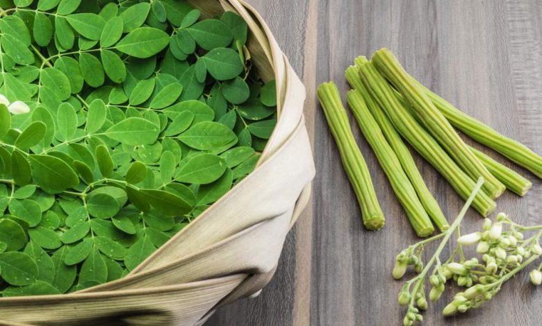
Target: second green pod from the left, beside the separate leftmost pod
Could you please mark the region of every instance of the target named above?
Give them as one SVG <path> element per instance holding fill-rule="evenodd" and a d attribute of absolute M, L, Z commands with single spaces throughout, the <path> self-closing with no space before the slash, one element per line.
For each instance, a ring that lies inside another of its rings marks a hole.
<path fill-rule="evenodd" d="M 347 93 L 348 105 L 358 121 L 359 128 L 367 139 L 372 151 L 375 152 L 380 166 L 390 180 L 391 187 L 397 199 L 409 217 L 412 228 L 418 237 L 427 237 L 434 232 L 433 224 L 429 220 L 427 212 L 423 207 L 416 190 L 404 173 L 401 163 L 393 149 L 384 138 L 375 118 L 372 117 L 363 96 L 356 89 Z"/>

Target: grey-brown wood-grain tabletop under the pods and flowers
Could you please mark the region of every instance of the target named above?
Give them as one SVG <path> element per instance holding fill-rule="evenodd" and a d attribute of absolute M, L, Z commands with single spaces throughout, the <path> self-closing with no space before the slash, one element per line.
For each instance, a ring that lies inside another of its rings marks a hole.
<path fill-rule="evenodd" d="M 247 2 L 261 12 L 304 80 L 306 122 L 318 175 L 312 204 L 290 232 L 272 282 L 258 298 L 217 311 L 208 325 L 402 325 L 404 309 L 396 303 L 402 282 L 392 280 L 391 269 L 397 252 L 417 238 L 352 122 L 387 218 L 380 232 L 363 229 L 315 89 L 334 80 L 346 92 L 344 71 L 354 58 L 386 46 L 438 94 L 542 153 L 542 1 Z M 486 153 L 514 166 L 492 151 Z M 443 212 L 454 218 L 461 199 L 432 166 L 418 155 L 416 159 Z M 534 188 L 521 200 L 505 194 L 498 200 L 498 211 L 520 223 L 540 224 L 541 181 L 518 171 L 534 182 Z M 463 225 L 466 232 L 477 230 L 482 219 L 470 210 Z M 507 282 L 481 309 L 444 320 L 441 311 L 457 291 L 447 286 L 447 294 L 425 312 L 425 325 L 541 323 L 542 289 L 530 284 L 528 271 Z"/>

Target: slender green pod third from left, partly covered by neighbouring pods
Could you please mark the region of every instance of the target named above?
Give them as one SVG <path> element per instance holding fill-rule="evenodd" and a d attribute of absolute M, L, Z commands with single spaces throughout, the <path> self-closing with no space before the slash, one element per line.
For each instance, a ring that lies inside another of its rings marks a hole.
<path fill-rule="evenodd" d="M 365 62 L 367 62 L 367 59 L 363 56 L 356 58 L 356 65 L 362 65 Z M 393 124 L 390 119 L 388 119 L 388 116 L 386 116 L 386 113 L 379 107 L 375 99 L 369 94 L 365 85 L 363 85 L 359 67 L 349 67 L 345 72 L 345 76 L 350 85 L 352 85 L 354 89 L 358 89 L 363 96 L 372 117 L 374 117 L 379 124 L 384 136 L 388 140 L 388 144 L 393 148 L 395 155 L 397 155 L 397 158 L 401 162 L 404 173 L 407 173 L 412 186 L 418 194 L 418 198 L 420 198 L 423 207 L 425 207 L 425 211 L 429 214 L 429 217 L 435 223 L 438 230 L 447 230 L 447 228 L 450 227 L 450 224 L 446 220 L 441 207 L 431 194 L 431 191 L 427 189 L 427 185 L 425 185 L 409 148 L 404 144 L 404 141 L 401 139 L 397 130 L 395 130 L 395 127 L 393 127 Z"/>

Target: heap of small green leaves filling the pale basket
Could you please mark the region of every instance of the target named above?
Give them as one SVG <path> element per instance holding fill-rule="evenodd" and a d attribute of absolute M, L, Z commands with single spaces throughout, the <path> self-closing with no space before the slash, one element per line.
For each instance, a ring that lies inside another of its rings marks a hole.
<path fill-rule="evenodd" d="M 233 12 L 0 0 L 0 291 L 123 277 L 258 162 L 277 119 Z"/>

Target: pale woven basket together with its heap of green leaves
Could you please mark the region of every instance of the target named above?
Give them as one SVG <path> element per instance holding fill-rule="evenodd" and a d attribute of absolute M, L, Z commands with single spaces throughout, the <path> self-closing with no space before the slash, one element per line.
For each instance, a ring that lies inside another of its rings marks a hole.
<path fill-rule="evenodd" d="M 304 87 L 238 0 L 0 0 L 0 323 L 195 325 L 272 277 Z"/>

